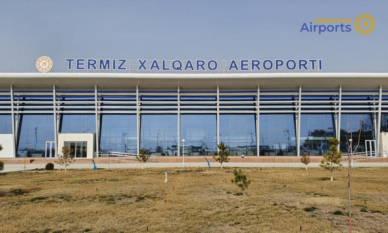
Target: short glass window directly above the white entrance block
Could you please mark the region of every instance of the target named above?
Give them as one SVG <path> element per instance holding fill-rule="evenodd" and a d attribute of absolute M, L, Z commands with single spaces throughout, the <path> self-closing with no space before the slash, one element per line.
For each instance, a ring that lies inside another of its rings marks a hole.
<path fill-rule="evenodd" d="M 94 114 L 61 114 L 59 132 L 61 133 L 95 133 Z"/>

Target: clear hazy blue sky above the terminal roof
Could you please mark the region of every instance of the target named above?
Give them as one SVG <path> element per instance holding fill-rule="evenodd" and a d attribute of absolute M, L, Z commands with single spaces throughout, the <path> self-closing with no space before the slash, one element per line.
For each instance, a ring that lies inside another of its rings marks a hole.
<path fill-rule="evenodd" d="M 322 59 L 324 72 L 388 72 L 387 9 L 386 0 L 4 0 L 0 72 L 37 72 L 42 55 L 54 72 L 69 72 L 66 58 Z M 376 21 L 370 35 L 353 26 L 363 13 Z M 315 18 L 351 18 L 352 31 L 300 32 Z"/>

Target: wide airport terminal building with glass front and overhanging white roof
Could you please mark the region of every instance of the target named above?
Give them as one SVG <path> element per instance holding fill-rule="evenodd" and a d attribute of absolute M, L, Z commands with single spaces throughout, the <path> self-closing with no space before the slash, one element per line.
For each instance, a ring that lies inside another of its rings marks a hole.
<path fill-rule="evenodd" d="M 331 137 L 347 152 L 360 128 L 358 151 L 386 156 L 388 73 L 252 72 L 240 61 L 232 72 L 211 61 L 208 72 L 163 72 L 164 60 L 102 71 L 68 60 L 70 72 L 0 73 L 0 157 L 55 158 L 63 146 L 75 158 L 213 155 L 220 142 L 230 155 L 313 156 Z"/>

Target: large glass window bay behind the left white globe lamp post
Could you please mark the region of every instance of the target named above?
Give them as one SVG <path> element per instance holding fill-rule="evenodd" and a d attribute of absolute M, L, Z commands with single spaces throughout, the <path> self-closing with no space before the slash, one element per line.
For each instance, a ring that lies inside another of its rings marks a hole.
<path fill-rule="evenodd" d="M 216 114 L 181 114 L 180 139 L 185 140 L 185 155 L 213 155 L 217 150 Z"/>

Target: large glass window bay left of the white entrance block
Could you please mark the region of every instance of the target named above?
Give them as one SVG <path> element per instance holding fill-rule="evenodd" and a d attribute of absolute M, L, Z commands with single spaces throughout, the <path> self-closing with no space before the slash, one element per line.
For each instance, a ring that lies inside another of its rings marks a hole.
<path fill-rule="evenodd" d="M 19 114 L 16 157 L 44 157 L 46 142 L 54 141 L 54 116 Z"/>

